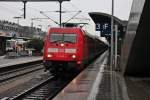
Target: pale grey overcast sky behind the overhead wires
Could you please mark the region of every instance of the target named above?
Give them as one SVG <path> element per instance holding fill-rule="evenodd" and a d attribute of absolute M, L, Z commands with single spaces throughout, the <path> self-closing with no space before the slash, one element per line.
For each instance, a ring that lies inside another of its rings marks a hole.
<path fill-rule="evenodd" d="M 63 2 L 63 11 L 68 11 L 63 13 L 63 22 L 74 16 L 79 10 L 82 12 L 76 17 L 84 19 L 89 18 L 88 12 L 104 12 L 110 14 L 111 1 L 112 0 L 71 0 L 70 2 Z M 114 1 L 114 15 L 122 20 L 128 20 L 132 0 Z M 22 8 L 23 3 L 21 2 L 0 2 L 0 19 L 17 22 L 17 20 L 13 17 L 23 15 Z M 21 19 L 20 24 L 30 26 L 31 18 L 46 18 L 44 15 L 40 14 L 40 11 L 43 11 L 53 20 L 59 21 L 59 14 L 57 12 L 53 12 L 57 10 L 59 10 L 59 4 L 57 2 L 28 2 L 26 19 Z M 88 20 L 84 21 L 88 22 Z M 34 20 L 34 26 L 38 27 L 38 25 L 42 25 L 43 30 L 47 29 L 48 25 L 55 26 L 51 20 Z"/>

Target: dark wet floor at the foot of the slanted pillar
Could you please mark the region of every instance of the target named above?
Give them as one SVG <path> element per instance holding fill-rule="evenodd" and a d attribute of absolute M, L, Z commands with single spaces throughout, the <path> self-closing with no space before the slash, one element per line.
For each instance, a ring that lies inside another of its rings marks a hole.
<path fill-rule="evenodd" d="M 125 77 L 130 100 L 150 100 L 150 78 Z"/>

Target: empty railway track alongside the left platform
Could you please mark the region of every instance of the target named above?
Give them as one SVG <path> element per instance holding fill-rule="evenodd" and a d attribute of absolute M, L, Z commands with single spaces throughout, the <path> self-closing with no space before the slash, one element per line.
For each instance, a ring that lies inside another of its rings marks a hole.
<path fill-rule="evenodd" d="M 8 68 L 7 68 L 7 70 L 8 70 Z M 26 66 L 23 66 L 21 64 L 16 69 L 10 69 L 6 72 L 0 73 L 0 84 L 5 82 L 5 81 L 14 79 L 16 77 L 23 76 L 25 74 L 29 74 L 29 73 L 32 73 L 32 72 L 35 72 L 35 71 L 38 71 L 38 70 L 42 70 L 42 69 L 44 69 L 43 66 L 42 66 L 42 63 L 38 63 L 38 64 L 35 64 L 35 65 L 33 63 L 32 64 L 29 63 L 28 66 L 27 66 L 27 64 L 26 64 Z"/>

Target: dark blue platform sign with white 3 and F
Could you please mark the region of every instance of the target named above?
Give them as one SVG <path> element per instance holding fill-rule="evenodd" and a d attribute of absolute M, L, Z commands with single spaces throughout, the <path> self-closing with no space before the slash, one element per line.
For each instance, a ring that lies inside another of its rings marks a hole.
<path fill-rule="evenodd" d="M 101 36 L 110 36 L 111 34 L 111 25 L 109 22 L 100 22 L 96 23 L 96 31 L 100 31 Z"/>

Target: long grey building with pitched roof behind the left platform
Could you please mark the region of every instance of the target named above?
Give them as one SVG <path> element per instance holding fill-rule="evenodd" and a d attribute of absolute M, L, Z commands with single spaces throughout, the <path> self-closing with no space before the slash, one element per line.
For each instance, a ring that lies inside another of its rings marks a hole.
<path fill-rule="evenodd" d="M 7 52 L 7 41 L 11 39 L 22 39 L 24 41 L 36 37 L 41 37 L 44 32 L 39 28 L 21 26 L 5 20 L 0 20 L 0 56 Z"/>

